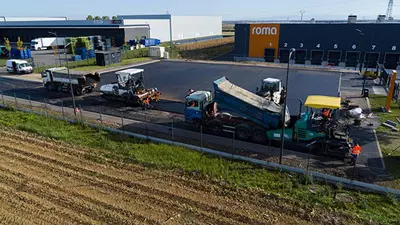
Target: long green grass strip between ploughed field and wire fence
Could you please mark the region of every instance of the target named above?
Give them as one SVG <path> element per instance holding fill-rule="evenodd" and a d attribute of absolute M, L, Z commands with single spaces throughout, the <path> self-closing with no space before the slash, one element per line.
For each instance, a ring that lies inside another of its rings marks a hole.
<path fill-rule="evenodd" d="M 365 194 L 342 190 L 355 201 L 344 203 L 333 198 L 335 189 L 314 184 L 316 194 L 309 191 L 305 179 L 278 171 L 269 171 L 248 163 L 226 160 L 171 145 L 145 143 L 80 125 L 13 110 L 0 110 L 0 127 L 20 129 L 65 141 L 76 146 L 94 148 L 97 156 L 138 163 L 146 167 L 184 171 L 198 171 L 199 179 L 217 182 L 231 189 L 256 190 L 272 195 L 293 207 L 323 208 L 327 212 L 341 212 L 353 222 L 393 224 L 400 219 L 400 203 L 391 196 Z M 93 159 L 96 161 L 98 160 Z"/>

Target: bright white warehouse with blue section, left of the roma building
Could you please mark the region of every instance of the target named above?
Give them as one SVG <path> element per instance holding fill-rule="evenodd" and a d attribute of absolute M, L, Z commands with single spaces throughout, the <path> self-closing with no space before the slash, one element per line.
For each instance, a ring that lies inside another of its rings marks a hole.
<path fill-rule="evenodd" d="M 221 16 L 121 15 L 124 25 L 149 24 L 151 38 L 176 41 L 222 35 Z"/>

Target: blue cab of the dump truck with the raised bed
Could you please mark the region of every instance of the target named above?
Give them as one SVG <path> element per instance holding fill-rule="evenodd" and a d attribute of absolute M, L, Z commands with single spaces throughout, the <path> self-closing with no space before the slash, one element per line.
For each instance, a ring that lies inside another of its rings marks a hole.
<path fill-rule="evenodd" d="M 210 91 L 195 91 L 185 98 L 185 121 L 200 127 L 205 118 L 206 107 L 211 104 L 213 97 Z"/>

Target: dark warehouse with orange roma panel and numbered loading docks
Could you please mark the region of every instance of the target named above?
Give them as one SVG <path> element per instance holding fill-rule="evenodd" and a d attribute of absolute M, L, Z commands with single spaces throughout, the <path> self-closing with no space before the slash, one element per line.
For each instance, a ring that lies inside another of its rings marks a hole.
<path fill-rule="evenodd" d="M 390 31 L 390 32 L 389 32 Z M 388 69 L 400 65 L 399 21 L 312 21 L 235 25 L 235 59 Z"/>

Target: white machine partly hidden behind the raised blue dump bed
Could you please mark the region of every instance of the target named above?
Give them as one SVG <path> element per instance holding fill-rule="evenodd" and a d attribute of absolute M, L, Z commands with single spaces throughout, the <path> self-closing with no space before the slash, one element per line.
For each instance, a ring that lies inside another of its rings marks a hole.
<path fill-rule="evenodd" d="M 260 89 L 257 87 L 256 94 L 279 104 L 281 101 L 282 81 L 275 78 L 265 78 L 261 81 Z M 272 96 L 271 96 L 272 94 Z"/>

